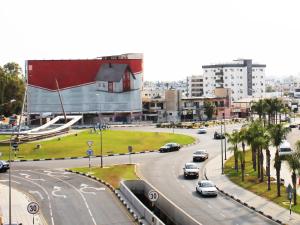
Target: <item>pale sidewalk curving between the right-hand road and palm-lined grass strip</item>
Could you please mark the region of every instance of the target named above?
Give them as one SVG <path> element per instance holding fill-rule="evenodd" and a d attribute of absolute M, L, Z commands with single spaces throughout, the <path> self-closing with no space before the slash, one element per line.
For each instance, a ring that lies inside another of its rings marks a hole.
<path fill-rule="evenodd" d="M 283 224 L 300 224 L 300 215 L 293 213 L 290 216 L 288 209 L 276 205 L 275 203 L 266 200 L 258 195 L 247 191 L 236 184 L 232 183 L 226 175 L 221 174 L 221 155 L 211 159 L 206 164 L 207 179 L 212 180 L 217 188 L 224 193 L 232 196 L 234 199 L 239 199 L 241 203 L 248 204 L 248 207 L 257 212 L 261 211 L 266 216 L 271 216 L 274 221 L 281 221 Z"/>

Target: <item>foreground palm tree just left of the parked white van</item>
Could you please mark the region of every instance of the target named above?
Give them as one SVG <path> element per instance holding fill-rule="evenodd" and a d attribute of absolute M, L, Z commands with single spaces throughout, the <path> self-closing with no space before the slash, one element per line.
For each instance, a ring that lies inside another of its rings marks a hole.
<path fill-rule="evenodd" d="M 281 159 L 279 157 L 279 145 L 283 142 L 286 134 L 289 132 L 288 128 L 284 127 L 283 124 L 275 124 L 269 127 L 269 133 L 273 145 L 276 147 L 275 163 L 276 169 L 276 181 L 277 181 L 277 196 L 280 196 L 280 170 L 281 170 Z"/>

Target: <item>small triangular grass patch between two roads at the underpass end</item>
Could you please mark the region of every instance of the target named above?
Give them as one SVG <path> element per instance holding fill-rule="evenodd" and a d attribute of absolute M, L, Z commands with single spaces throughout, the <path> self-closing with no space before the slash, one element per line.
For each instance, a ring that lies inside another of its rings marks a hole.
<path fill-rule="evenodd" d="M 101 180 L 106 181 L 114 188 L 119 188 L 121 180 L 138 180 L 139 178 L 135 174 L 135 165 L 115 165 L 110 167 L 88 167 L 84 168 L 72 168 L 72 171 L 78 171 L 83 173 L 89 173 Z"/>

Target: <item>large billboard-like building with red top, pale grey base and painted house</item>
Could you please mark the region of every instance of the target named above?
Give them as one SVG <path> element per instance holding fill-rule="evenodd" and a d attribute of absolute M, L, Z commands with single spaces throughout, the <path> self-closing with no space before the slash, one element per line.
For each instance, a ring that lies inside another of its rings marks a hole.
<path fill-rule="evenodd" d="M 64 109 L 68 115 L 83 115 L 84 123 L 141 119 L 142 54 L 28 60 L 26 74 L 26 108 L 31 117 L 61 115 Z"/>

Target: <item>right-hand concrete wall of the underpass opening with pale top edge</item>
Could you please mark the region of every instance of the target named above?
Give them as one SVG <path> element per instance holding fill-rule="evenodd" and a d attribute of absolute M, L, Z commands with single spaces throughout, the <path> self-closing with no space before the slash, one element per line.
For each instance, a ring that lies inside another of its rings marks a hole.
<path fill-rule="evenodd" d="M 121 191 L 125 189 L 124 186 L 127 186 L 128 189 L 135 193 L 144 194 L 144 196 L 148 196 L 150 190 L 157 191 L 152 185 L 147 183 L 143 180 L 136 180 L 136 181 L 124 181 L 121 184 Z M 128 190 L 127 190 L 128 191 Z M 189 224 L 189 225 L 201 225 L 201 223 L 197 222 L 191 216 L 189 216 L 186 212 L 176 206 L 173 202 L 167 199 L 162 193 L 159 193 L 159 198 L 155 202 L 155 207 L 159 208 L 165 215 L 168 216 L 170 220 L 173 221 L 175 225 L 182 225 L 182 224 Z M 130 193 L 126 193 L 130 196 Z M 133 195 L 133 194 L 131 194 Z M 127 197 L 127 196 L 126 196 Z M 132 198 L 132 197 L 131 197 Z M 137 207 L 140 207 L 137 205 Z M 148 221 L 148 220 L 147 220 Z M 156 223 L 156 224 L 163 224 L 163 223 Z"/>

